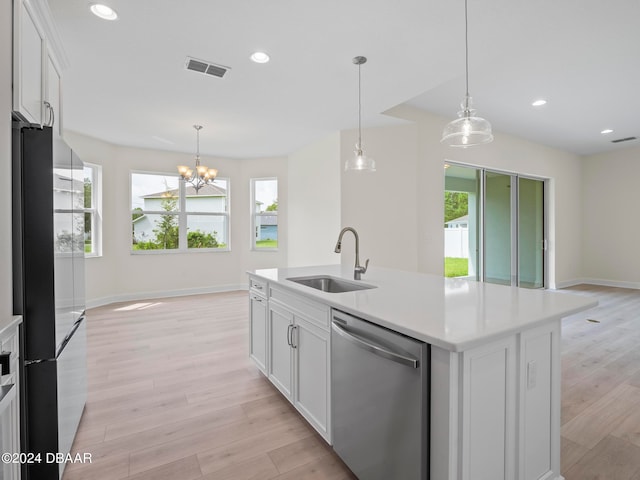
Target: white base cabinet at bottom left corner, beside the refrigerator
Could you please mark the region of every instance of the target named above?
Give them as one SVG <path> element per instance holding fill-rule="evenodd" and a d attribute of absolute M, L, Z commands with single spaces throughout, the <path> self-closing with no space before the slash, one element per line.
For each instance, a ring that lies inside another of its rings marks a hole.
<path fill-rule="evenodd" d="M 20 317 L 14 319 L 0 331 L 0 345 L 3 354 L 9 355 L 9 371 L 3 370 L 0 377 L 0 451 L 20 453 L 20 377 L 18 327 Z M 2 462 L 0 478 L 20 479 L 20 463 Z"/>

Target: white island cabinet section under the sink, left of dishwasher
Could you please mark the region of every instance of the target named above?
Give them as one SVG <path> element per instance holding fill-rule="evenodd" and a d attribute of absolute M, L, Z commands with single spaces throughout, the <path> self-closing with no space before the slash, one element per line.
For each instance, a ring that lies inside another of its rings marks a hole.
<path fill-rule="evenodd" d="M 251 359 L 331 443 L 330 308 L 254 277 L 249 298 Z M 261 301 L 268 305 L 266 323 Z"/>

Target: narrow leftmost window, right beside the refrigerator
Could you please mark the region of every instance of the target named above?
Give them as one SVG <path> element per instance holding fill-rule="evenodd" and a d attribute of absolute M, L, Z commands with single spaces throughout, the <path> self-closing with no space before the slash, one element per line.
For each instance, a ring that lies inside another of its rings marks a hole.
<path fill-rule="evenodd" d="M 84 164 L 84 254 L 102 255 L 102 167 Z"/>

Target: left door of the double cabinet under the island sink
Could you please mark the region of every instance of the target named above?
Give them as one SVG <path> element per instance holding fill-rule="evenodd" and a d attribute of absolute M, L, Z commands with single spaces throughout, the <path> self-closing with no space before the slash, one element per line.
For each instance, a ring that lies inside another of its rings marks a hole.
<path fill-rule="evenodd" d="M 289 400 L 293 378 L 292 328 L 293 314 L 269 305 L 269 379 Z"/>

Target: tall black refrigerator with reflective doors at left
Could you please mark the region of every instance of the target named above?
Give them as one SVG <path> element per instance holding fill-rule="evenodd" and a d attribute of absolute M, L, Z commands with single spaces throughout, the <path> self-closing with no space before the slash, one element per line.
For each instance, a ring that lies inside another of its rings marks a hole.
<path fill-rule="evenodd" d="M 41 454 L 22 477 L 57 480 L 65 465 L 47 458 L 71 449 L 87 391 L 83 165 L 49 127 L 15 120 L 12 134 L 21 448 Z"/>

